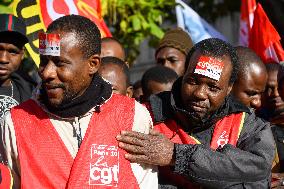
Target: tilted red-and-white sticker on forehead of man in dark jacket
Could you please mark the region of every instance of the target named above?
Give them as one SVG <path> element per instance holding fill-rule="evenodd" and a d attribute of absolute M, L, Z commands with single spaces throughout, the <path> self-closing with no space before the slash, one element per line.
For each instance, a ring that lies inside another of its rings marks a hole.
<path fill-rule="evenodd" d="M 194 73 L 219 81 L 224 63 L 213 57 L 200 56 Z"/>

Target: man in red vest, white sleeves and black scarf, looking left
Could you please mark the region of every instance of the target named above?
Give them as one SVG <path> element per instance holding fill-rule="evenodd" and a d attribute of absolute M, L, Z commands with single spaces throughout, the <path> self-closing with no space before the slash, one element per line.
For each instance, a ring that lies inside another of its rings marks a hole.
<path fill-rule="evenodd" d="M 70 15 L 39 34 L 42 84 L 5 116 L 3 157 L 15 188 L 157 188 L 154 166 L 130 163 L 121 130 L 148 133 L 151 117 L 112 93 L 97 70 L 101 36 L 89 19 Z"/>

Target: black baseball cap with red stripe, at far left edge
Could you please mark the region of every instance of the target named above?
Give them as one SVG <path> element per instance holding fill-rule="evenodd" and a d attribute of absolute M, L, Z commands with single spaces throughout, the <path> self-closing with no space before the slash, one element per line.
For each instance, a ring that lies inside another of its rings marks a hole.
<path fill-rule="evenodd" d="M 12 14 L 0 14 L 0 42 L 24 46 L 29 42 L 26 36 L 26 24 Z"/>

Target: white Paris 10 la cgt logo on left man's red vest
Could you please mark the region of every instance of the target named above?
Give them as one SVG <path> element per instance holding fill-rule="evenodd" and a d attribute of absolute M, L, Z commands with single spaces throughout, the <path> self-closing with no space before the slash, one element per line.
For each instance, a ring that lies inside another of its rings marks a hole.
<path fill-rule="evenodd" d="M 117 146 L 93 144 L 89 185 L 117 187 L 119 173 L 119 152 Z"/>

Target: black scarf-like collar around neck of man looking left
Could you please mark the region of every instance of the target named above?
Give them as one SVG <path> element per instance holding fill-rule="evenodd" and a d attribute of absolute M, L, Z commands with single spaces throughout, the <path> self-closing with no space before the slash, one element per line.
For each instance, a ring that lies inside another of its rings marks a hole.
<path fill-rule="evenodd" d="M 35 93 L 35 98 L 50 114 L 60 118 L 74 118 L 85 115 L 92 108 L 95 111 L 100 111 L 100 106 L 111 97 L 112 87 L 110 83 L 106 82 L 98 74 L 95 74 L 90 86 L 80 97 L 64 103 L 59 107 L 52 107 L 47 103 L 47 96 L 41 88 L 37 92 L 39 94 Z"/>

